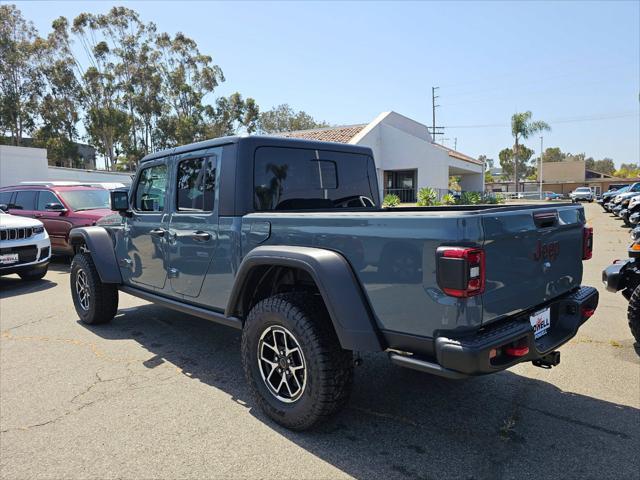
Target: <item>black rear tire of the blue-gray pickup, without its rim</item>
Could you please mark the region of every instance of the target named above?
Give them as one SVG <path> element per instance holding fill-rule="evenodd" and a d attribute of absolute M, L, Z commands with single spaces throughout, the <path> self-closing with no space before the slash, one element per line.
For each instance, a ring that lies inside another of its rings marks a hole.
<path fill-rule="evenodd" d="M 274 325 L 293 334 L 306 363 L 306 386 L 293 403 L 271 393 L 260 373 L 260 338 Z M 258 302 L 242 332 L 242 365 L 262 411 L 292 430 L 306 430 L 336 413 L 349 399 L 353 385 L 352 352 L 340 347 L 319 295 L 286 293 Z"/>

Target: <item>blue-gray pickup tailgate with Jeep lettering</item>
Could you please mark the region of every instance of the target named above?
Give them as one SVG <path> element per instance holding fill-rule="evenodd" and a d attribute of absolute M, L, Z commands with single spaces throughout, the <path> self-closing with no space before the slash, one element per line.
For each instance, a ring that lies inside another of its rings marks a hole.
<path fill-rule="evenodd" d="M 483 323 L 543 304 L 580 285 L 584 210 L 558 206 L 483 216 Z"/>

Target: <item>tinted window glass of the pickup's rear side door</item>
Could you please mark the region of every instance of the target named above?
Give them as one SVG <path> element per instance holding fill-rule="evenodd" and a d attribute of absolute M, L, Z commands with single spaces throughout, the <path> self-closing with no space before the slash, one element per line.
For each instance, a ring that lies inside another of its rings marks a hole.
<path fill-rule="evenodd" d="M 190 158 L 178 163 L 177 208 L 182 211 L 213 211 L 216 156 Z"/>

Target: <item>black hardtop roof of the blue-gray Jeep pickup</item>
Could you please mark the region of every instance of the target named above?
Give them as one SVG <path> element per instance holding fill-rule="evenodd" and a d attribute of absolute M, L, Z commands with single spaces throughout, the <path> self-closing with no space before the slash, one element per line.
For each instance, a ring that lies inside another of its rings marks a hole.
<path fill-rule="evenodd" d="M 203 150 L 206 148 L 219 147 L 221 145 L 228 144 L 242 144 L 247 147 L 296 147 L 296 148 L 311 148 L 315 150 L 333 150 L 340 152 L 360 153 L 364 155 L 371 155 L 371 149 L 368 147 L 362 147 L 359 145 L 351 145 L 347 143 L 335 143 L 335 142 L 320 142 L 316 140 L 305 140 L 298 138 L 285 138 L 270 135 L 250 135 L 250 136 L 230 136 L 212 138 L 210 140 L 204 140 L 202 142 L 190 143 L 188 145 L 182 145 L 180 147 L 167 148 L 160 150 L 159 152 L 150 153 L 146 155 L 141 162 L 154 160 L 157 158 L 168 157 L 170 155 L 178 155 L 180 153 L 192 152 L 194 150 Z"/>

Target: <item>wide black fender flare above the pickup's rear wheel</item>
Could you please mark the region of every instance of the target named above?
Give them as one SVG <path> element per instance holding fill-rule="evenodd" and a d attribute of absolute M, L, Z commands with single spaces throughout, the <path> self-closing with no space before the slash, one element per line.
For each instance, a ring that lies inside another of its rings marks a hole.
<path fill-rule="evenodd" d="M 316 283 L 331 322 L 346 350 L 384 350 L 374 315 L 349 262 L 337 252 L 314 247 L 260 246 L 243 259 L 227 303 L 226 316 L 241 307 L 251 271 L 264 266 L 286 266 L 307 272 Z"/>

